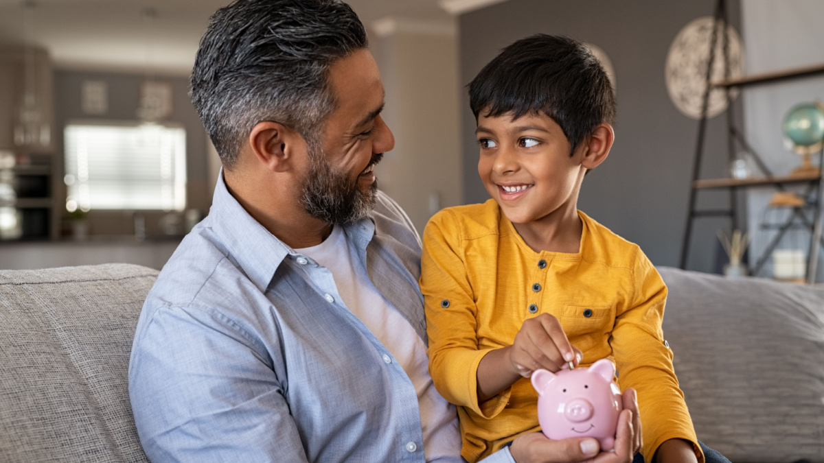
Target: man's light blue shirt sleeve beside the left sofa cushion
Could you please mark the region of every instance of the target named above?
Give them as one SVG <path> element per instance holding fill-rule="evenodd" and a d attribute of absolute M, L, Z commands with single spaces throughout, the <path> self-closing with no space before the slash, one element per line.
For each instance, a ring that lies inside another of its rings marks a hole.
<path fill-rule="evenodd" d="M 151 461 L 307 461 L 262 345 L 218 311 L 146 312 L 129 397 Z"/>

